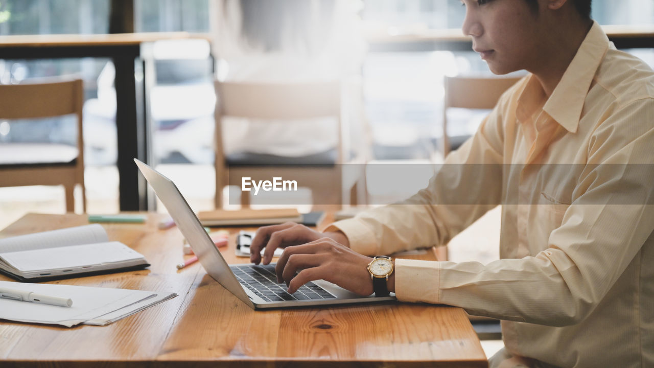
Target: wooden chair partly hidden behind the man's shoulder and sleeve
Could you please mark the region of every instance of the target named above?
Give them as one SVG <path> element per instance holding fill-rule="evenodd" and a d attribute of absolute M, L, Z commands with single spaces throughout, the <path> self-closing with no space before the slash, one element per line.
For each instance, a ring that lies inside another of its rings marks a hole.
<path fill-rule="evenodd" d="M 443 108 L 443 157 L 463 143 L 447 133 L 447 109 L 492 109 L 500 96 L 522 77 L 445 77 L 445 107 Z"/>

